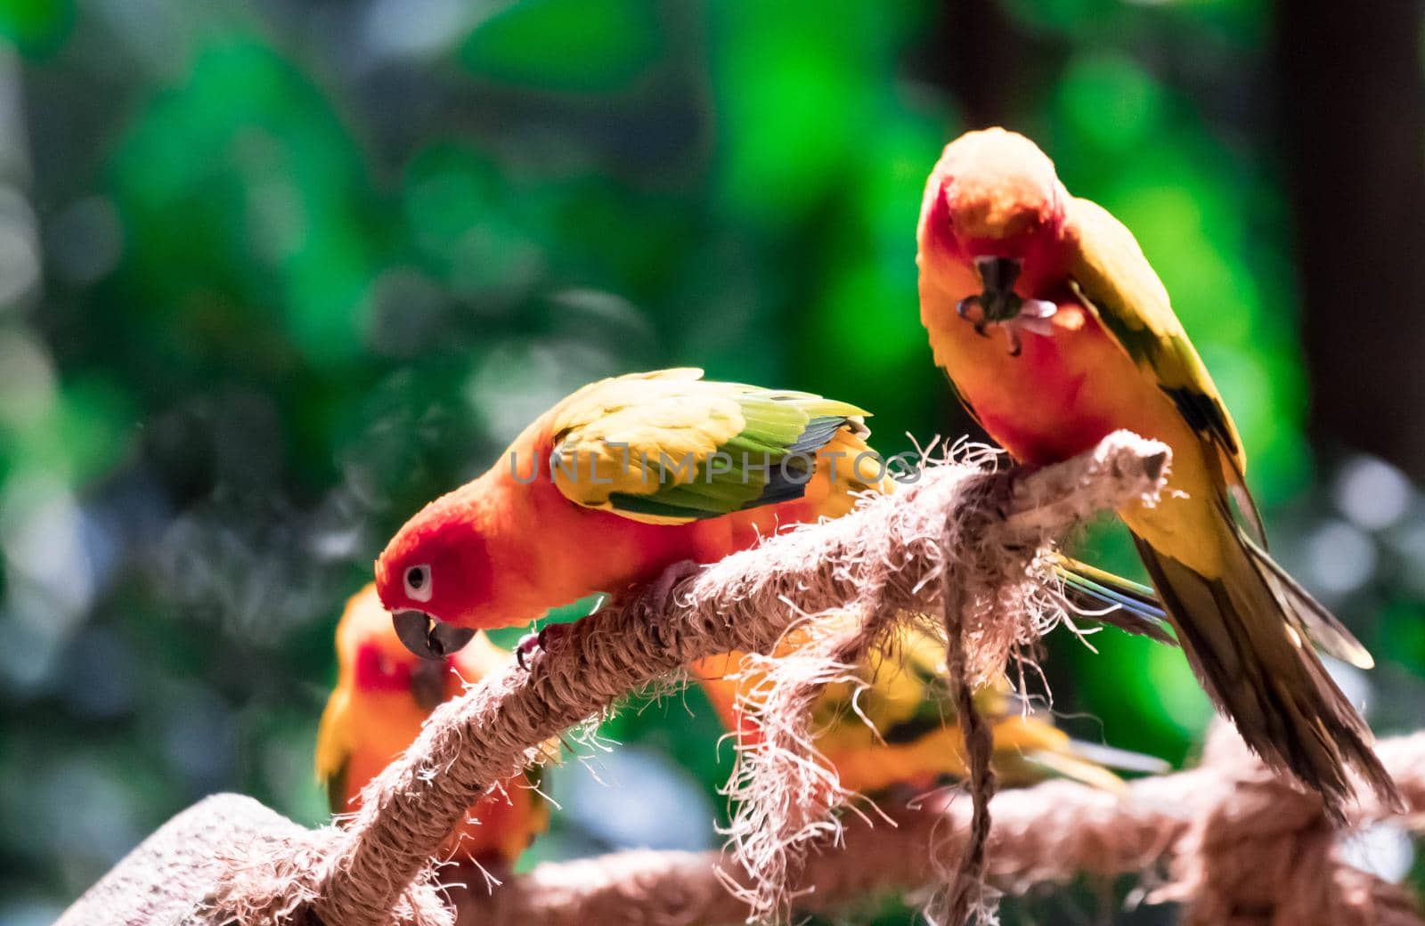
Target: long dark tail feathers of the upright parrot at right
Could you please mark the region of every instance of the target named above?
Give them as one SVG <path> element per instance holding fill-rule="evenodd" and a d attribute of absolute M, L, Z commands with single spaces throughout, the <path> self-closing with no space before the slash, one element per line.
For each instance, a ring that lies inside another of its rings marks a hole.
<path fill-rule="evenodd" d="M 1342 816 L 1341 805 L 1352 795 L 1348 765 L 1382 801 L 1402 806 L 1371 748 L 1369 728 L 1301 633 L 1320 628 L 1317 608 L 1325 608 L 1230 519 L 1221 524 L 1228 534 L 1221 577 L 1203 576 L 1134 534 L 1203 687 L 1247 745 L 1321 794 L 1332 818 Z M 1340 627 L 1335 618 L 1330 625 Z"/>

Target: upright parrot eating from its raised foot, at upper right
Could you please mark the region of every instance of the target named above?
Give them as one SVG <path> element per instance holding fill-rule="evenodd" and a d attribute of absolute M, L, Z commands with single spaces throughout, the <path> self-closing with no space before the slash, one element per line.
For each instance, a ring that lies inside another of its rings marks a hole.
<path fill-rule="evenodd" d="M 1072 197 L 1032 141 L 990 128 L 945 148 L 918 241 L 935 360 L 1015 459 L 1063 460 L 1120 427 L 1171 446 L 1161 500 L 1119 514 L 1243 738 L 1332 811 L 1348 765 L 1398 802 L 1311 641 L 1358 667 L 1371 657 L 1267 556 L 1241 439 L 1129 229 Z"/>

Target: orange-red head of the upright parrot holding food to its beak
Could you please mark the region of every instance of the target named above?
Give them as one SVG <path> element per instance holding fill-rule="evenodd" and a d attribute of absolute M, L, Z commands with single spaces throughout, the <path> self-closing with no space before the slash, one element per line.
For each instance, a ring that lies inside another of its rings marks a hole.
<path fill-rule="evenodd" d="M 983 292 L 966 302 L 976 302 L 985 321 L 1013 319 L 1022 308 L 1016 283 L 1053 269 L 1046 264 L 1067 198 L 1053 162 L 1023 135 L 1003 128 L 960 135 L 926 185 L 919 238 L 931 266 L 922 264 L 922 272 L 935 272 L 936 261 L 972 266 Z"/>

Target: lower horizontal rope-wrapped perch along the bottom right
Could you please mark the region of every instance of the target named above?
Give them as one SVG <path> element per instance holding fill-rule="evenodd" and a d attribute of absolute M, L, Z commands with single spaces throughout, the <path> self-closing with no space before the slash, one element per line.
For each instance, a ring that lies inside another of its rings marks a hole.
<path fill-rule="evenodd" d="M 1235 739 L 1230 729 L 1226 735 Z M 1425 734 L 1379 744 L 1425 823 Z M 1191 926 L 1425 926 L 1408 892 L 1345 865 L 1317 796 L 1275 776 L 1240 741 L 1227 755 L 1176 775 L 1144 778 L 1126 796 L 1054 781 L 992 801 L 988 873 L 1010 892 L 1079 875 L 1144 875 L 1171 883 L 1151 900 L 1187 903 Z M 915 890 L 938 878 L 935 853 L 955 858 L 969 841 L 965 801 L 889 813 L 893 825 L 848 821 L 844 845 L 814 852 L 798 912 L 831 910 L 878 890 Z M 1391 818 L 1374 799 L 1348 822 Z M 621 852 L 556 862 L 493 895 L 460 896 L 460 923 L 576 926 L 717 926 L 742 922 L 747 905 L 722 889 L 728 862 L 715 852 Z M 745 872 L 731 872 L 747 880 Z M 795 888 L 795 886 L 794 886 Z"/>

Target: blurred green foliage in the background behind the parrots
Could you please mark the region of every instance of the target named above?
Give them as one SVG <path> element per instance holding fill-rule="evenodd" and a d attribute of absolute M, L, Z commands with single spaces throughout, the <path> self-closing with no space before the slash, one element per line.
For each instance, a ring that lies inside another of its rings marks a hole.
<path fill-rule="evenodd" d="M 1325 517 L 1418 561 L 1415 521 L 1371 533 L 1312 494 L 1263 4 L 1002 11 L 1047 74 L 1006 111 L 1139 235 L 1254 489 L 1301 529 L 1287 558 L 1314 561 Z M 966 127 L 942 16 L 0 1 L 0 920 L 47 922 L 212 791 L 323 819 L 338 607 L 406 516 L 571 389 L 701 365 L 864 405 L 886 453 L 965 432 L 913 262 L 925 175 Z M 1116 530 L 1089 546 L 1137 568 Z M 1425 664 L 1425 590 L 1367 570 L 1335 591 L 1404 675 Z M 1059 637 L 1077 734 L 1174 761 L 1200 742 L 1178 654 Z M 556 769 L 566 809 L 530 860 L 712 845 L 728 749 L 701 695 L 604 732 L 630 745 L 596 761 L 657 786 L 590 809 L 579 764 Z M 654 792 L 671 809 L 644 819 Z"/>

